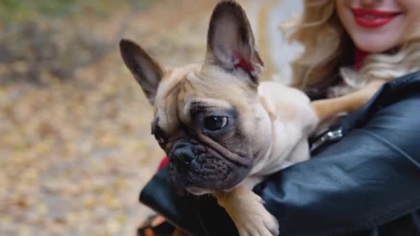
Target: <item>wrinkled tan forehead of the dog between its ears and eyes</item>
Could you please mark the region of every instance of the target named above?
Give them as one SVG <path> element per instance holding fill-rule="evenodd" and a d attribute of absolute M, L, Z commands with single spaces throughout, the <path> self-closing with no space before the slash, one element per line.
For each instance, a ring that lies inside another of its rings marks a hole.
<path fill-rule="evenodd" d="M 158 88 L 154 104 L 155 122 L 165 132 L 177 132 L 180 125 L 189 125 L 195 112 L 202 110 L 230 110 L 236 106 L 245 106 L 247 101 L 233 99 L 243 96 L 245 90 L 235 79 L 227 78 L 227 73 L 211 72 L 207 75 L 200 66 L 187 66 L 171 70 Z M 229 85 L 222 83 L 230 79 Z M 249 97 L 249 96 L 245 96 Z"/>

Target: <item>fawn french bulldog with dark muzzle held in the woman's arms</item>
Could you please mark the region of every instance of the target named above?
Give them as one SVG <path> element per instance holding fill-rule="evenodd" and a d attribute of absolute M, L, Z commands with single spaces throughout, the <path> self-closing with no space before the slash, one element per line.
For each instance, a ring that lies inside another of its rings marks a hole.
<path fill-rule="evenodd" d="M 211 15 L 204 63 L 164 68 L 133 41 L 120 51 L 153 106 L 152 134 L 175 185 L 211 193 L 240 235 L 278 235 L 277 220 L 251 189 L 309 159 L 307 139 L 338 112 L 352 112 L 379 84 L 315 102 L 300 90 L 260 82 L 263 69 L 245 11 L 221 1 Z"/>

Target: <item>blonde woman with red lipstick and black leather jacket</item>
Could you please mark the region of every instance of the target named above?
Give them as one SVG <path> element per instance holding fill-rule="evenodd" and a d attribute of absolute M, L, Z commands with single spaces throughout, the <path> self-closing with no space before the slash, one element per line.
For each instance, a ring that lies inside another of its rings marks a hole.
<path fill-rule="evenodd" d="M 280 235 L 420 234 L 420 1 L 305 1 L 292 41 L 294 86 L 313 99 L 390 81 L 361 110 L 314 139 L 313 158 L 254 189 Z M 166 168 L 141 201 L 194 235 L 234 235 L 216 201 L 173 193 Z"/>

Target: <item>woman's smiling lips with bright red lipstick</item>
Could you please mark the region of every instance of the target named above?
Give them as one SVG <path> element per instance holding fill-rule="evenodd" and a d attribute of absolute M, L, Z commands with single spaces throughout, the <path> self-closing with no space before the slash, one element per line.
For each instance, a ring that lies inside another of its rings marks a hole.
<path fill-rule="evenodd" d="M 385 12 L 381 10 L 372 10 L 364 8 L 353 8 L 354 20 L 364 28 L 379 28 L 397 17 L 400 12 Z"/>

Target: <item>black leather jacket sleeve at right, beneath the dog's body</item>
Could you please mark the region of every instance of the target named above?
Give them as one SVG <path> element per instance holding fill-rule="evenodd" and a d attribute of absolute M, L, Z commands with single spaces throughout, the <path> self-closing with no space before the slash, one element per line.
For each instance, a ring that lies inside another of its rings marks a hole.
<path fill-rule="evenodd" d="M 420 94 L 260 186 L 285 235 L 343 235 L 420 209 Z"/>

